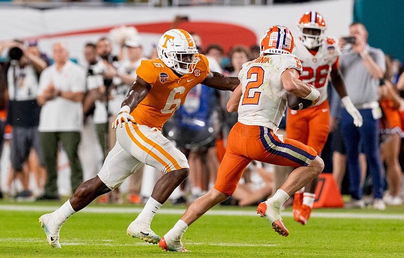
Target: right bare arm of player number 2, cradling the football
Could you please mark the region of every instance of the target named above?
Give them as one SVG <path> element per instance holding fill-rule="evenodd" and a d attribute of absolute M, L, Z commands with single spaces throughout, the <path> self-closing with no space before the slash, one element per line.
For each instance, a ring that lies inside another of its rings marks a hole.
<path fill-rule="evenodd" d="M 283 88 L 298 97 L 307 98 L 310 94 L 316 91 L 318 92 L 318 90 L 310 84 L 299 80 L 299 73 L 295 69 L 286 69 L 281 75 L 281 80 Z M 320 92 L 318 96 L 320 97 Z"/>

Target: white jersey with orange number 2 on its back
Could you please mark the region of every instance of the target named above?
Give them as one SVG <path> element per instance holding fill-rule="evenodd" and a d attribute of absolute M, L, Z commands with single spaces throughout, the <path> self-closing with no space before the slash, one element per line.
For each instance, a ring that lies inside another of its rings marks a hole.
<path fill-rule="evenodd" d="M 243 64 L 238 74 L 242 84 L 238 104 L 240 123 L 276 131 L 287 105 L 287 91 L 281 81 L 286 69 L 300 73 L 300 61 L 294 55 L 270 55 Z"/>

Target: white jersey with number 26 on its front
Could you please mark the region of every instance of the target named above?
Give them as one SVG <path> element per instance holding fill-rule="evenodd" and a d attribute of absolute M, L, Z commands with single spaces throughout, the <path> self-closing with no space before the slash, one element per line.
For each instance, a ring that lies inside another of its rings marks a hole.
<path fill-rule="evenodd" d="M 312 84 L 321 94 L 316 106 L 327 99 L 328 75 L 339 54 L 337 42 L 333 38 L 323 40 L 316 55 L 310 53 L 309 49 L 300 40 L 295 42 L 293 55 L 300 60 L 303 66 L 300 80 Z"/>

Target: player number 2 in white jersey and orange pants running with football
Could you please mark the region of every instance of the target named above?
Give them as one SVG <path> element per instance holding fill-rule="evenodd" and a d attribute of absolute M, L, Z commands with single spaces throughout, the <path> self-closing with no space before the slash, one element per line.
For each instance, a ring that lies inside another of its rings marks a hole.
<path fill-rule="evenodd" d="M 186 251 L 181 242 L 183 233 L 191 223 L 233 194 L 251 160 L 296 168 L 275 195 L 257 208 L 257 213 L 265 216 L 277 233 L 289 234 L 282 223 L 282 204 L 324 168 L 313 148 L 276 134 L 286 109 L 288 92 L 312 100 L 313 104 L 320 99 L 317 89 L 298 79 L 301 64 L 291 55 L 293 45 L 288 28 L 273 26 L 261 38 L 261 56 L 243 64 L 238 75 L 240 85 L 227 104 L 229 112 L 238 111 L 238 122 L 229 133 L 215 187 L 189 206 L 160 240 L 161 248 Z"/>

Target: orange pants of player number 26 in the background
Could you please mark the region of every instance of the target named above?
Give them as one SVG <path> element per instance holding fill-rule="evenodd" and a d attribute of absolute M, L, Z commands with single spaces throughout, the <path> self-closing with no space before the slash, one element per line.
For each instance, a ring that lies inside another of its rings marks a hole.
<path fill-rule="evenodd" d="M 314 148 L 321 153 L 330 130 L 328 100 L 316 107 L 290 110 L 286 117 L 286 136 Z"/>

